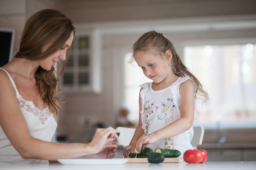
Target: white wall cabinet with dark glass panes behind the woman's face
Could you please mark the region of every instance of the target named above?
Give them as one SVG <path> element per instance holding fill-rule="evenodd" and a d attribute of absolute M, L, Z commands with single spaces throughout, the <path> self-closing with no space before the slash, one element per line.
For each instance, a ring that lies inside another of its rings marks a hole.
<path fill-rule="evenodd" d="M 101 64 L 92 42 L 94 34 L 76 33 L 67 66 L 60 78 L 61 91 L 101 93 Z M 97 42 L 97 41 L 96 41 Z M 93 56 L 92 56 L 93 54 Z"/>

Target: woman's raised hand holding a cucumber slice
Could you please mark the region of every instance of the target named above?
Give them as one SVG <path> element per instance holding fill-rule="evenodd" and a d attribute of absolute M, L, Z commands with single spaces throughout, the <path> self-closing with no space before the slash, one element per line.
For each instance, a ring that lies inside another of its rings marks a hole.
<path fill-rule="evenodd" d="M 97 128 L 95 134 L 92 138 L 92 141 L 89 145 L 92 147 L 92 150 L 95 154 L 99 153 L 105 144 L 110 141 L 115 140 L 117 136 L 117 130 L 112 127 L 108 128 Z"/>

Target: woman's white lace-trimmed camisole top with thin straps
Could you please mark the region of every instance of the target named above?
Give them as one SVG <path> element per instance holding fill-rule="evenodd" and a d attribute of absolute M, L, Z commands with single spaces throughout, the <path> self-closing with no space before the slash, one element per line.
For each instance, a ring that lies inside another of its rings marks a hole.
<path fill-rule="evenodd" d="M 3 68 L 0 69 L 4 70 Z M 11 75 L 7 71 L 5 72 L 9 76 L 11 84 L 16 91 L 16 98 L 18 100 L 20 112 L 27 122 L 30 135 L 43 141 L 51 141 L 57 128 L 57 123 L 53 114 L 49 111 L 48 107 L 40 110 L 33 104 L 33 102 L 23 99 L 19 94 Z M 40 150 L 38 150 L 38 152 L 40 152 Z M 0 166 L 7 164 L 31 163 L 49 163 L 49 161 L 39 159 L 23 159 L 20 157 L 20 154 L 11 145 L 11 142 L 0 126 Z"/>

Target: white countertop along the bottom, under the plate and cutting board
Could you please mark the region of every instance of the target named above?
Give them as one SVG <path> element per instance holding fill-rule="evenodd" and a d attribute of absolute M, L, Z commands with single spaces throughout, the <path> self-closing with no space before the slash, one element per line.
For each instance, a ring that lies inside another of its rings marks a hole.
<path fill-rule="evenodd" d="M 121 165 L 49 165 L 2 166 L 0 170 L 255 170 L 256 161 L 205 163 L 124 163 Z"/>

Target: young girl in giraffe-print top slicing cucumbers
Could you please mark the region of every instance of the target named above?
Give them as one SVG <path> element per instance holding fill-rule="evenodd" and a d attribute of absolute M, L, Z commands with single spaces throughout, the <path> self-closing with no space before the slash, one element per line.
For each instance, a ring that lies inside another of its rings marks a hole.
<path fill-rule="evenodd" d="M 208 99 L 202 84 L 189 72 L 173 44 L 155 31 L 142 35 L 133 45 L 130 62 L 136 61 L 153 82 L 141 85 L 139 124 L 126 149 L 142 147 L 175 149 L 182 154 L 193 149 L 192 124 L 196 115 L 195 99 Z"/>

